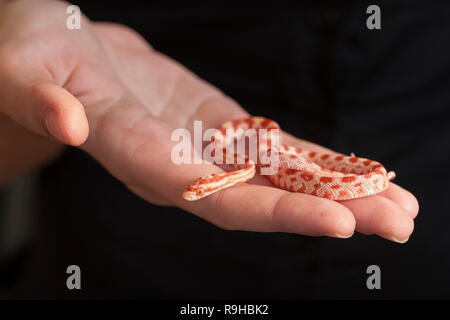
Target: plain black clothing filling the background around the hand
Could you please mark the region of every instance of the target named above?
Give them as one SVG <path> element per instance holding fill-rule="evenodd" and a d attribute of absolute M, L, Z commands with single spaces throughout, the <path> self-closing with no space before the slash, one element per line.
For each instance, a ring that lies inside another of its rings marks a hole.
<path fill-rule="evenodd" d="M 20 297 L 449 298 L 450 2 L 75 1 L 126 24 L 254 115 L 297 137 L 377 159 L 419 199 L 407 244 L 220 230 L 128 191 L 69 149 L 42 172 L 40 229 Z M 66 268 L 82 270 L 81 291 Z M 382 289 L 366 287 L 380 266 Z"/>

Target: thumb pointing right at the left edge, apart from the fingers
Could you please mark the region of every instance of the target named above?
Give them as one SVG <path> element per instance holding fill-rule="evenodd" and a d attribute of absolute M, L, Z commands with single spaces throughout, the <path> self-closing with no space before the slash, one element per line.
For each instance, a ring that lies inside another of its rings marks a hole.
<path fill-rule="evenodd" d="M 72 146 L 82 144 L 89 134 L 81 102 L 50 82 L 9 82 L 0 89 L 0 112 L 34 133 Z"/>

